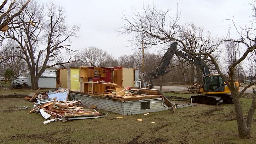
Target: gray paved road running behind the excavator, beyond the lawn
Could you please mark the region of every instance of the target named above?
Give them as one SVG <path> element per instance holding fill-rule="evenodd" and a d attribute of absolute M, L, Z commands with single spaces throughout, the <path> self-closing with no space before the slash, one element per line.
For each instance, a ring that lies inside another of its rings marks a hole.
<path fill-rule="evenodd" d="M 185 91 L 187 90 L 186 87 L 188 86 L 163 86 L 162 87 L 162 92 L 167 92 L 167 91 Z M 154 89 L 160 89 L 160 86 L 154 86 Z M 240 90 L 242 90 L 243 87 L 240 87 Z M 253 93 L 252 88 L 248 88 L 245 93 Z"/>

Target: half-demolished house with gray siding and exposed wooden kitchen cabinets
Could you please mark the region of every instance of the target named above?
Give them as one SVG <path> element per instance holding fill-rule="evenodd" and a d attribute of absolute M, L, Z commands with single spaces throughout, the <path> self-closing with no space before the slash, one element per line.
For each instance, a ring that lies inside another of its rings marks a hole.
<path fill-rule="evenodd" d="M 84 105 L 123 115 L 170 109 L 172 104 L 160 91 L 134 87 L 138 77 L 136 71 L 122 67 L 57 70 L 56 88 L 65 85 L 73 98 Z"/>

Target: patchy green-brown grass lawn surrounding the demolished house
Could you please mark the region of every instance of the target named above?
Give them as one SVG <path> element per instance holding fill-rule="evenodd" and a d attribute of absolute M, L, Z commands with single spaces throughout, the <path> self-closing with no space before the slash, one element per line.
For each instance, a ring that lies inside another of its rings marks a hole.
<path fill-rule="evenodd" d="M 97 119 L 70 120 L 43 124 L 36 113 L 27 114 L 33 103 L 23 97 L 32 90 L 0 90 L 0 143 L 4 144 L 254 144 L 256 119 L 251 128 L 254 138 L 238 138 L 234 105 L 197 104 L 193 107 L 152 112 L 148 115 L 120 115 L 113 112 Z M 42 90 L 43 91 L 43 90 Z M 46 91 L 46 90 L 45 90 Z M 189 98 L 190 94 L 165 95 Z M 171 100 L 172 102 L 172 100 Z M 249 110 L 250 96 L 241 98 L 244 112 Z M 17 109 L 26 106 L 29 109 Z M 124 117 L 117 119 L 116 117 Z M 136 121 L 142 119 L 143 121 Z M 154 122 L 154 123 L 152 123 Z"/>

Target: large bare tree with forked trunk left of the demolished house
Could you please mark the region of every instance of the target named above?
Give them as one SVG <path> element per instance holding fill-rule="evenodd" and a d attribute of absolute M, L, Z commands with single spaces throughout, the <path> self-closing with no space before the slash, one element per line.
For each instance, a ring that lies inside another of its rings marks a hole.
<path fill-rule="evenodd" d="M 32 1 L 22 13 L 15 20 L 23 25 L 7 31 L 7 38 L 18 44 L 16 48 L 24 56 L 12 57 L 20 57 L 26 61 L 31 76 L 31 88 L 38 89 L 38 80 L 46 68 L 72 62 L 71 58 L 65 58 L 72 51 L 67 43 L 71 37 L 78 36 L 79 25 L 69 29 L 65 23 L 64 8 L 52 2 L 44 7 L 37 1 Z M 35 23 L 26 23 L 27 21 Z"/>

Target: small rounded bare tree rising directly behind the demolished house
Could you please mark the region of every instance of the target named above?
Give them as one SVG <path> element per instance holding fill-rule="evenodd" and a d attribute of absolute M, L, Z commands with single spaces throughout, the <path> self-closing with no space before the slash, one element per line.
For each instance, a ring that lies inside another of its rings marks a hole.
<path fill-rule="evenodd" d="M 93 63 L 95 66 L 99 67 L 106 66 L 109 60 L 114 59 L 111 54 L 94 46 L 82 49 L 80 58 L 86 66 L 90 66 L 90 64 Z"/>

